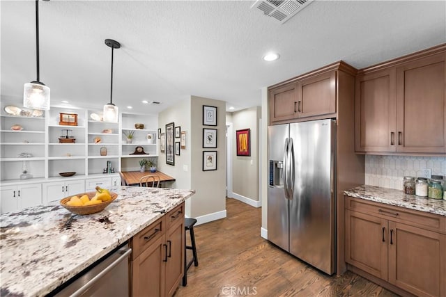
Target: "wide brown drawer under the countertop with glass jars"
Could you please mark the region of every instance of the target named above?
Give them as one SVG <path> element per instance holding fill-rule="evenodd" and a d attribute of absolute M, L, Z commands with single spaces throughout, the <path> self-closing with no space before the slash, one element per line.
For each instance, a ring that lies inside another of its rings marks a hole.
<path fill-rule="evenodd" d="M 446 218 L 436 214 L 428 214 L 423 211 L 413 211 L 402 207 L 394 207 L 378 202 L 371 202 L 359 198 L 346 196 L 346 208 L 353 211 L 360 211 L 379 218 L 386 218 L 394 222 L 406 223 L 426 230 L 441 232 L 446 234 Z"/>

